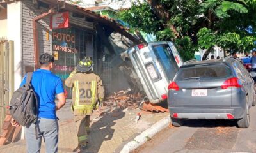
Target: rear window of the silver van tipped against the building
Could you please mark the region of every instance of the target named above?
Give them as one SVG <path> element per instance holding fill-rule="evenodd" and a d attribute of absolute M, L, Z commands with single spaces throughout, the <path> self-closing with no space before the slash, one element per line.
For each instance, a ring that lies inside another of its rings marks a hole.
<path fill-rule="evenodd" d="M 166 76 L 169 80 L 172 80 L 179 67 L 169 45 L 154 45 L 152 49 L 162 68 L 166 72 Z"/>

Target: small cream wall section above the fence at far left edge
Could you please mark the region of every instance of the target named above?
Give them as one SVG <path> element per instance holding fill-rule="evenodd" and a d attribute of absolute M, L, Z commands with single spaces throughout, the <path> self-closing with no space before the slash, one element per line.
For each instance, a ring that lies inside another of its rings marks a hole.
<path fill-rule="evenodd" d="M 0 38 L 7 36 L 7 10 L 0 10 Z"/>

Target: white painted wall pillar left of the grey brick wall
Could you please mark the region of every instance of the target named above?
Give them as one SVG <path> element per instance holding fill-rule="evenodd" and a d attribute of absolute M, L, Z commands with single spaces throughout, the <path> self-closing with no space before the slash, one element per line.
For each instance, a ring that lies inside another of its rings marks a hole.
<path fill-rule="evenodd" d="M 21 76 L 21 3 L 7 5 L 7 39 L 14 41 L 14 90 L 18 89 Z"/>

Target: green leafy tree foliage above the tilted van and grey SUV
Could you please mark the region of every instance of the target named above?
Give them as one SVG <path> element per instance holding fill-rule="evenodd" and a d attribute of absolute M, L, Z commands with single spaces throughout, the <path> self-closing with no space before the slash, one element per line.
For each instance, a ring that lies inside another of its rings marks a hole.
<path fill-rule="evenodd" d="M 226 52 L 255 48 L 256 0 L 148 0 L 119 17 L 131 27 L 172 40 L 184 59 L 216 45 Z"/>

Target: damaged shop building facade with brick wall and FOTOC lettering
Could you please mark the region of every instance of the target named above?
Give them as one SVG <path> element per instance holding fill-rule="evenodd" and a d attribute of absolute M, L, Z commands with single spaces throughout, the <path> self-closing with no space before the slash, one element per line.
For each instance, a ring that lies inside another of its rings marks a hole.
<path fill-rule="evenodd" d="M 64 12 L 68 13 L 68 28 L 51 29 L 52 15 Z M 13 66 L 13 70 L 1 73 L 3 82 L 7 75 L 13 76 L 9 80 L 13 87 L 0 84 L 0 89 L 8 89 L 8 93 L 1 94 L 12 94 L 18 89 L 24 75 L 38 68 L 38 57 L 43 53 L 54 55 L 55 65 L 52 71 L 63 82 L 80 59 L 92 57 L 95 64 L 93 70 L 99 75 L 104 74 L 102 80 L 106 80 L 106 86 L 110 87 L 113 83 L 111 81 L 115 80 L 111 59 L 141 43 L 115 20 L 65 1 L 51 0 L 0 0 L 0 38 L 4 42 L 13 42 L 12 60 L 6 62 Z M 6 53 L 7 51 L 3 51 L 1 55 Z M 71 90 L 66 88 L 65 91 L 67 98 L 70 98 Z M 4 105 L 8 105 L 9 100 L 1 100 L 1 108 L 5 108 Z M 2 109 L 0 113 L 4 112 Z"/>

